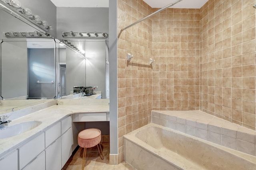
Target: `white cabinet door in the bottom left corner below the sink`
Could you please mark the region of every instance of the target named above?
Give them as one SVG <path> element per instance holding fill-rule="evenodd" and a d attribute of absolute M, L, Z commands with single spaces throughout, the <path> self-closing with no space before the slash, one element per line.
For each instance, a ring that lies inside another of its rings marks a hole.
<path fill-rule="evenodd" d="M 18 150 L 0 159 L 1 170 L 18 170 Z"/>

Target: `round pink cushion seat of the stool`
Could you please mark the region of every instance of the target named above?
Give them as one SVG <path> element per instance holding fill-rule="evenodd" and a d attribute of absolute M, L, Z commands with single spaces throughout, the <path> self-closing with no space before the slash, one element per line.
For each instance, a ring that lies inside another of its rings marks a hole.
<path fill-rule="evenodd" d="M 78 145 L 83 148 L 94 147 L 101 140 L 100 129 L 90 128 L 78 133 Z"/>

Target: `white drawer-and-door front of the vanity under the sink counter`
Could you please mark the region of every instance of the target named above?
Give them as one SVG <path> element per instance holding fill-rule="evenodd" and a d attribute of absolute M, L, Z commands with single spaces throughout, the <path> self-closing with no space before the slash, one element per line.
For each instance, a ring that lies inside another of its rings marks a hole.
<path fill-rule="evenodd" d="M 0 159 L 2 170 L 57 170 L 72 154 L 72 117 L 50 125 Z"/>

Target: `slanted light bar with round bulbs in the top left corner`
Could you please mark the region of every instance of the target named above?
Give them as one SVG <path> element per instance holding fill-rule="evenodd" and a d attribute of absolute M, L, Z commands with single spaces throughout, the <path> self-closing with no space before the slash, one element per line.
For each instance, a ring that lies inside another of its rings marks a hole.
<path fill-rule="evenodd" d="M 4 3 L 0 1 L 0 4 L 4 4 L 7 8 L 16 12 L 17 14 L 22 14 L 22 16 L 29 20 L 30 22 L 38 25 L 44 31 L 48 32 L 52 30 L 52 26 L 48 25 L 47 21 L 42 20 L 40 16 L 32 14 L 32 11 L 29 8 L 23 8 L 18 0 L 2 0 Z"/>

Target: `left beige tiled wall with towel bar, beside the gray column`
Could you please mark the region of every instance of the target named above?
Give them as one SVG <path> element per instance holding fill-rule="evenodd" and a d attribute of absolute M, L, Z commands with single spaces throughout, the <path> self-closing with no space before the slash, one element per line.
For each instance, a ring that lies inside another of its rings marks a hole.
<path fill-rule="evenodd" d="M 142 0 L 118 0 L 118 32 L 152 13 Z M 127 61 L 127 53 L 134 57 Z M 118 39 L 118 162 L 124 160 L 123 135 L 151 119 L 152 20 L 130 27 Z"/>

